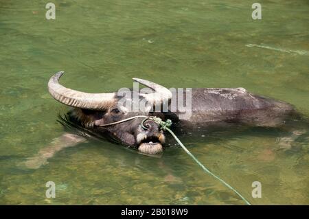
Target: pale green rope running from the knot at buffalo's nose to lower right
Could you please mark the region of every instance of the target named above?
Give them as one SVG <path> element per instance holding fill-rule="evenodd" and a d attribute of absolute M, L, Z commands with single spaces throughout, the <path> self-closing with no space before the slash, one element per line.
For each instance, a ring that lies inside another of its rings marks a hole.
<path fill-rule="evenodd" d="M 214 178 L 218 179 L 218 181 L 220 181 L 221 183 L 223 183 L 225 186 L 227 186 L 229 189 L 233 190 L 233 192 L 235 192 L 236 194 L 238 194 L 238 196 L 240 196 L 240 198 L 242 200 L 244 200 L 244 202 L 247 205 L 251 205 L 249 203 L 249 201 L 244 198 L 239 192 L 237 192 L 236 189 L 234 189 L 233 187 L 231 187 L 231 185 L 229 185 L 228 183 L 226 183 L 224 180 L 222 180 L 222 178 L 220 178 L 219 176 L 216 176 L 215 174 L 213 174 L 210 170 L 208 170 L 207 168 L 205 168 L 205 166 L 198 161 L 198 159 L 196 159 L 196 157 L 194 157 L 194 155 L 187 150 L 187 148 L 185 148 L 185 146 L 183 145 L 183 143 L 181 143 L 181 141 L 178 139 L 178 137 L 176 137 L 176 135 L 174 134 L 174 132 L 172 132 L 172 130 L 170 130 L 170 126 L 172 125 L 172 121 L 170 119 L 166 119 L 166 122 L 163 122 L 162 119 L 158 118 L 158 117 L 151 117 L 150 119 L 152 119 L 154 122 L 156 122 L 157 124 L 159 124 L 159 126 L 161 126 L 161 128 L 163 130 L 167 130 L 168 132 L 170 132 L 170 134 L 172 135 L 172 137 L 174 137 L 174 139 L 176 139 L 176 141 L 179 143 L 179 145 L 181 146 L 181 148 L 183 148 L 183 150 L 185 150 L 185 152 L 187 152 L 187 154 L 190 155 L 190 157 L 192 157 L 192 159 L 194 159 L 194 161 L 201 166 L 201 168 L 207 172 L 207 174 L 210 174 L 211 176 L 214 176 Z M 146 120 L 146 119 L 144 119 Z M 144 123 L 144 122 L 143 122 Z"/>

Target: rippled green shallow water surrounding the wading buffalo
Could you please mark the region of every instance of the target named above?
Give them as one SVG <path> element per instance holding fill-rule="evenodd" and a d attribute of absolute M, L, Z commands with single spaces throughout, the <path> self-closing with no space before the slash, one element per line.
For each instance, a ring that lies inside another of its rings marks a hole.
<path fill-rule="evenodd" d="M 90 141 L 37 170 L 23 168 L 64 132 L 56 119 L 67 107 L 47 92 L 56 71 L 66 71 L 67 87 L 87 92 L 132 87 L 133 77 L 165 87 L 244 87 L 309 115 L 308 1 L 259 1 L 257 21 L 254 1 L 57 0 L 54 21 L 45 19 L 47 2 L 0 0 L 0 204 L 244 204 L 176 146 L 155 158 Z M 305 131 L 284 150 L 280 139 L 291 133 L 278 130 L 181 139 L 253 205 L 308 205 Z M 56 198 L 45 197 L 47 181 L 56 183 Z M 252 198 L 253 181 L 262 183 L 262 198 Z"/>

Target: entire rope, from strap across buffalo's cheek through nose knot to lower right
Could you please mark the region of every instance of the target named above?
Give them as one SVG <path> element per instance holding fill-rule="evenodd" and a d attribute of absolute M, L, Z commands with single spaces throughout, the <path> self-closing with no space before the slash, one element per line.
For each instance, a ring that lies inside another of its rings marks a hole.
<path fill-rule="evenodd" d="M 183 145 L 183 143 L 181 143 L 181 141 L 178 139 L 178 137 L 176 137 L 176 135 L 174 134 L 174 132 L 172 132 L 172 130 L 170 130 L 170 126 L 172 125 L 172 121 L 170 119 L 166 119 L 165 122 L 163 122 L 163 120 L 159 117 L 155 117 L 155 116 L 146 116 L 146 115 L 136 115 L 133 117 L 129 117 L 127 119 L 122 119 L 118 122 L 112 122 L 109 124 L 104 124 L 101 126 L 111 126 L 111 125 L 115 125 L 115 124 L 119 124 L 122 122 L 127 122 L 131 119 L 135 119 L 135 118 L 139 118 L 139 117 L 143 117 L 143 121 L 141 122 L 141 127 L 144 129 L 148 129 L 144 126 L 144 122 L 146 122 L 146 120 L 151 119 L 152 121 L 154 121 L 155 123 L 157 123 L 159 125 L 159 127 L 162 130 L 167 130 L 168 132 L 170 132 L 170 134 L 172 135 L 172 137 L 174 137 L 174 139 L 179 143 L 179 145 L 181 146 L 181 148 L 183 148 L 183 150 L 185 150 L 185 152 L 187 154 L 189 154 L 189 156 L 209 175 L 213 176 L 214 178 L 218 179 L 218 181 L 220 181 L 222 184 L 224 184 L 226 187 L 228 187 L 229 189 L 231 189 L 233 192 L 235 192 L 243 201 L 244 203 L 246 203 L 247 205 L 251 205 L 249 203 L 249 201 L 244 198 L 236 189 L 234 189 L 233 187 L 231 187 L 231 185 L 229 185 L 229 183 L 225 182 L 224 180 L 222 180 L 222 178 L 220 178 L 219 176 L 216 176 L 214 173 L 212 173 L 210 170 L 208 170 L 205 165 L 203 165 L 200 161 L 198 161 L 198 159 L 196 159 L 196 157 L 194 157 L 194 155 L 187 150 L 187 148 L 185 148 L 185 146 Z"/>

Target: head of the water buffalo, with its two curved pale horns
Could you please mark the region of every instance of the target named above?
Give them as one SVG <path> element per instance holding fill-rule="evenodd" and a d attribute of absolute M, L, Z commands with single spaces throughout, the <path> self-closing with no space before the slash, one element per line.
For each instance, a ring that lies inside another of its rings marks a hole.
<path fill-rule="evenodd" d="M 163 113 L 154 112 L 152 110 L 154 107 L 132 111 L 127 106 L 120 106 L 119 101 L 123 100 L 124 97 L 119 96 L 117 92 L 84 93 L 68 89 L 58 82 L 63 73 L 63 71 L 60 71 L 50 78 L 48 90 L 58 102 L 73 107 L 73 110 L 69 113 L 72 121 L 77 122 L 83 128 L 91 130 L 91 132 L 95 132 L 97 135 L 107 135 L 126 146 L 138 148 L 142 153 L 157 154 L 162 152 L 165 135 L 163 130 L 160 130 L 159 125 L 151 119 L 146 119 L 144 126 L 141 126 L 144 118 L 140 117 L 111 126 L 104 125 L 136 115 L 156 115 L 161 119 L 165 119 Z M 153 106 L 158 103 L 168 102 L 172 98 L 170 90 L 159 84 L 138 78 L 133 78 L 133 80 L 152 89 L 152 93 L 138 92 L 138 102 L 146 100 L 148 106 Z M 130 96 L 126 96 L 126 99 L 130 99 L 135 94 L 136 91 L 130 91 Z"/>

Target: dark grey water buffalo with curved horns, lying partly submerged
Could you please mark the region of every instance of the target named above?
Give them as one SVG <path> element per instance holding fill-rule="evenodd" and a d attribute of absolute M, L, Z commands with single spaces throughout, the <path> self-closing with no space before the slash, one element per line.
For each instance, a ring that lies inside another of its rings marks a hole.
<path fill-rule="evenodd" d="M 246 89 L 199 88 L 190 93 L 192 107 L 190 117 L 182 118 L 183 111 L 129 111 L 119 107 L 122 96 L 119 93 L 84 93 L 68 89 L 59 84 L 63 72 L 58 72 L 48 82 L 49 93 L 58 102 L 72 106 L 65 119 L 65 124 L 79 126 L 84 135 L 104 136 L 126 146 L 137 148 L 144 154 L 157 154 L 163 151 L 165 134 L 159 125 L 148 119 L 141 126 L 144 118 L 135 118 L 128 122 L 104 126 L 136 115 L 157 116 L 171 119 L 174 126 L 194 128 L 220 124 L 244 124 L 247 126 L 276 127 L 284 124 L 287 117 L 295 113 L 293 106 L 285 102 L 255 95 Z M 133 78 L 152 89 L 152 93 L 137 93 L 139 101 L 148 104 L 163 104 L 173 97 L 172 92 L 159 84 L 148 80 Z M 134 95 L 136 91 L 131 91 Z M 184 91 L 185 92 L 185 91 Z M 174 94 L 175 95 L 175 94 Z M 179 93 L 176 93 L 179 95 Z M 102 127 L 103 126 L 103 127 Z M 145 128 L 146 127 L 146 128 Z M 69 138 L 72 138 L 69 136 Z"/>

